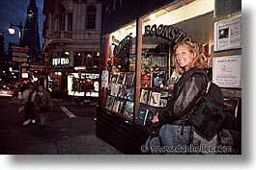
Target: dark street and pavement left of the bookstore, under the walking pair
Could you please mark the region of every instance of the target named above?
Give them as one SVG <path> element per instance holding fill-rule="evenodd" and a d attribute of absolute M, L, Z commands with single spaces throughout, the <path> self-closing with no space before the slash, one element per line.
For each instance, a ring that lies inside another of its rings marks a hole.
<path fill-rule="evenodd" d="M 44 129 L 22 126 L 23 111 L 12 98 L 0 98 L 1 155 L 121 154 L 96 137 L 96 107 L 53 99 Z M 71 116 L 72 115 L 72 116 Z"/>

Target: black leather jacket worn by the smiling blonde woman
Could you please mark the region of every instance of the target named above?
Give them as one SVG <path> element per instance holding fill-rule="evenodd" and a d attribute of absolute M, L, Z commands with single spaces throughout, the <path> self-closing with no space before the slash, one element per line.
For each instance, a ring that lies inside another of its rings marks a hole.
<path fill-rule="evenodd" d="M 196 71 L 197 73 L 192 75 L 189 73 Z M 198 73 L 198 71 L 201 73 Z M 187 75 L 190 76 L 187 77 Z M 184 120 L 185 115 L 192 112 L 197 102 L 203 96 L 207 83 L 208 78 L 204 70 L 190 68 L 186 71 L 177 84 L 174 85 L 174 98 L 172 102 L 168 105 L 167 109 L 159 112 L 159 122 L 173 124 L 173 122 Z"/>

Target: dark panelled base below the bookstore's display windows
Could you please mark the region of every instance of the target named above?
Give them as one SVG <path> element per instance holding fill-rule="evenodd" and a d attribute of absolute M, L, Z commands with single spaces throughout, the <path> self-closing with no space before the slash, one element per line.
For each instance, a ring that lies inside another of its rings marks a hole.
<path fill-rule="evenodd" d="M 133 124 L 125 118 L 98 107 L 97 137 L 115 146 L 124 154 L 143 154 L 140 147 L 145 144 L 148 134 L 144 127 Z"/>

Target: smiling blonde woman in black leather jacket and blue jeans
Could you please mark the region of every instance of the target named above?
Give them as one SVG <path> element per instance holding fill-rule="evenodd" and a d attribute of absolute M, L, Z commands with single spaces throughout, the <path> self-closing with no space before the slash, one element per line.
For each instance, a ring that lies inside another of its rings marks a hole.
<path fill-rule="evenodd" d="M 208 78 L 205 74 L 194 73 L 188 78 L 185 76 L 194 69 L 203 71 L 204 62 L 199 56 L 198 45 L 190 41 L 178 42 L 175 56 L 182 77 L 174 85 L 171 104 L 167 109 L 158 111 L 152 120 L 162 126 L 159 137 L 147 141 L 150 146 L 185 147 L 190 144 L 194 129 L 188 115 L 196 108 L 207 88 Z M 186 154 L 186 151 L 174 149 L 173 152 L 161 154 Z"/>

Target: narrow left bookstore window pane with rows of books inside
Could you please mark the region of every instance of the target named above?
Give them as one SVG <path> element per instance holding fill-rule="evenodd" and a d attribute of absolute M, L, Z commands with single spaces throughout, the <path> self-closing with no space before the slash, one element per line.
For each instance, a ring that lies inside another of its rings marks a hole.
<path fill-rule="evenodd" d="M 108 59 L 109 80 L 104 107 L 132 122 L 135 109 L 135 51 L 132 51 L 131 47 L 135 44 L 135 38 L 131 34 L 124 34 L 118 38 L 112 36 L 111 40 L 111 56 Z"/>

